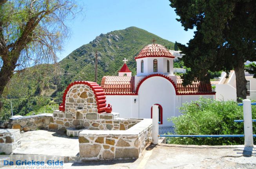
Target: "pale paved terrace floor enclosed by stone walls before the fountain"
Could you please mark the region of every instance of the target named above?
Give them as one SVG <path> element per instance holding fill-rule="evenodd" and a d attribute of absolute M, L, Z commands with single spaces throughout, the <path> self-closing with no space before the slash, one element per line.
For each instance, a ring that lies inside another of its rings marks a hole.
<path fill-rule="evenodd" d="M 77 160 L 79 155 L 78 137 L 68 137 L 61 131 L 34 130 L 21 133 L 20 142 L 20 148 L 15 149 L 13 154 L 61 155 L 66 160 Z"/>

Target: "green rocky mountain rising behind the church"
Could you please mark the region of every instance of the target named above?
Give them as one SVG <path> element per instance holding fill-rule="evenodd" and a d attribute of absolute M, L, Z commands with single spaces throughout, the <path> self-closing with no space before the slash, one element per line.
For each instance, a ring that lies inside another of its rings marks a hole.
<path fill-rule="evenodd" d="M 162 44 L 174 49 L 174 43 L 162 39 L 146 30 L 129 27 L 100 34 L 93 41 L 77 48 L 57 65 L 41 64 L 16 73 L 10 80 L 2 98 L 0 118 L 11 116 L 10 98 L 13 114 L 32 114 L 51 112 L 62 101 L 62 93 L 68 84 L 75 80 L 94 81 L 95 52 L 98 51 L 98 84 L 102 76 L 118 75 L 123 59 L 136 74 L 134 57 L 147 44 Z M 1 119 L 0 119 L 1 120 Z"/>

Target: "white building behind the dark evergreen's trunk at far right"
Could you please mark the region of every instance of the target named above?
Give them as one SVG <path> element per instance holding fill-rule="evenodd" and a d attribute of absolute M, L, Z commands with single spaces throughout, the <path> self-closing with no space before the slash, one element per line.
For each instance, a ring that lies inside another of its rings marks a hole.
<path fill-rule="evenodd" d="M 222 72 L 220 82 L 216 84 L 216 100 L 236 100 L 236 74 L 230 71 L 229 77 L 227 73 Z M 245 71 L 245 79 L 247 80 L 247 99 L 256 100 L 256 78 Z"/>

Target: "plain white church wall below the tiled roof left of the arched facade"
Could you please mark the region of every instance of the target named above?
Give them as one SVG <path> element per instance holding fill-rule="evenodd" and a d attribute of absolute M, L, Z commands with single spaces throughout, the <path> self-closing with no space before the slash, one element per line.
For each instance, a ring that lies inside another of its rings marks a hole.
<path fill-rule="evenodd" d="M 134 103 L 136 99 L 136 103 Z M 121 118 L 138 118 L 139 100 L 133 95 L 106 95 L 106 103 L 112 105 L 112 112 Z"/>

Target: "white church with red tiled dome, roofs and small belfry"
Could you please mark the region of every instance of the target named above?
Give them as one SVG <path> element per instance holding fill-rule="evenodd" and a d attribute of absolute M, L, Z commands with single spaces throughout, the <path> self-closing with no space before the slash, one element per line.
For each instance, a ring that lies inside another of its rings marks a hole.
<path fill-rule="evenodd" d="M 172 125 L 167 118 L 179 116 L 182 103 L 198 100 L 200 96 L 213 99 L 215 92 L 210 83 L 195 81 L 182 85 L 180 76 L 173 74 L 174 58 L 164 46 L 149 44 L 135 57 L 136 76 L 132 76 L 126 63 L 118 76 L 103 76 L 101 86 L 113 112 L 122 118 L 151 118 L 152 105 L 156 104 L 160 124 Z"/>

